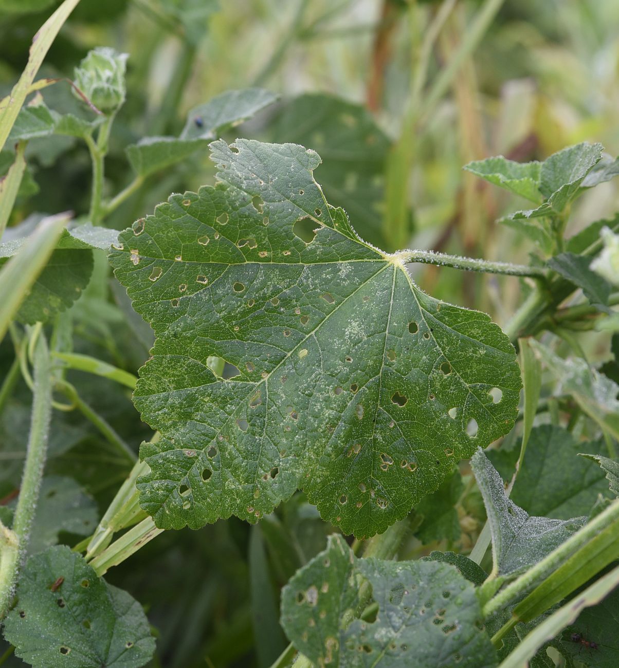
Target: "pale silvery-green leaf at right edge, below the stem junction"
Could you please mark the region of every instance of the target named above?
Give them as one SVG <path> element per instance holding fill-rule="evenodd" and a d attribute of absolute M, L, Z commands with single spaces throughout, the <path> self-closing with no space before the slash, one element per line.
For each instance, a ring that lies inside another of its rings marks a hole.
<path fill-rule="evenodd" d="M 619 386 L 590 367 L 584 359 L 561 359 L 550 349 L 531 341 L 543 363 L 561 381 L 561 391 L 576 400 L 581 409 L 619 439 Z"/>

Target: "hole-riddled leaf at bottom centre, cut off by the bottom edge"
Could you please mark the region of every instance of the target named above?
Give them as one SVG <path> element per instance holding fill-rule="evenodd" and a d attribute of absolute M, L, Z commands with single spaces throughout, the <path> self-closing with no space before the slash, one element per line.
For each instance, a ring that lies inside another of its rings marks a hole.
<path fill-rule="evenodd" d="M 373 622 L 358 617 L 359 578 L 372 585 Z M 355 558 L 342 536 L 281 593 L 281 622 L 316 665 L 483 668 L 497 663 L 475 587 L 451 564 Z"/>

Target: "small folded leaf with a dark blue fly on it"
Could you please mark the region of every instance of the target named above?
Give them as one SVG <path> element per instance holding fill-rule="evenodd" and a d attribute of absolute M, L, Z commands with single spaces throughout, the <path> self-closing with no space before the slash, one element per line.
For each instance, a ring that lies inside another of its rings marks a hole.
<path fill-rule="evenodd" d="M 208 140 L 251 118 L 273 104 L 277 96 L 261 88 L 227 91 L 193 108 L 176 137 L 146 137 L 126 148 L 127 158 L 139 176 L 148 176 L 206 148 Z"/>

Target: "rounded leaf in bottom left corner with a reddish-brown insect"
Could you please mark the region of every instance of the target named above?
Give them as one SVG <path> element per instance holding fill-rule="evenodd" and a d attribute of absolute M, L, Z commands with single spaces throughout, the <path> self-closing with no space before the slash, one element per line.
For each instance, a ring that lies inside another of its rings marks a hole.
<path fill-rule="evenodd" d="M 34 668 L 139 668 L 154 652 L 142 606 L 64 546 L 28 559 L 4 635 Z"/>

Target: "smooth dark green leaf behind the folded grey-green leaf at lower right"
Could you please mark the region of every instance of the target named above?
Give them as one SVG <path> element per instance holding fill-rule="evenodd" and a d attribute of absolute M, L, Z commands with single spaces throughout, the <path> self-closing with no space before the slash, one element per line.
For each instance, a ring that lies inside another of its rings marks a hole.
<path fill-rule="evenodd" d="M 578 442 L 562 427 L 533 428 L 511 500 L 539 517 L 568 520 L 588 514 L 598 494 L 608 496 L 608 484 L 595 464 L 578 459 L 582 450 L 606 452 L 602 441 Z M 512 457 L 505 454 L 497 450 L 489 451 L 487 456 L 503 480 L 510 480 L 517 452 Z"/>

